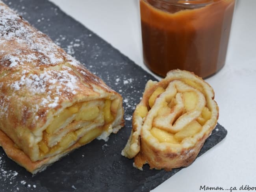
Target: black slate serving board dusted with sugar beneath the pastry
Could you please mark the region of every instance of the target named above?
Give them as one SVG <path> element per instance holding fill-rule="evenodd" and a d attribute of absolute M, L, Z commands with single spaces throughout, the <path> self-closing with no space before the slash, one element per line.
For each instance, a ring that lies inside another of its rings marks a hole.
<path fill-rule="evenodd" d="M 111 135 L 108 142 L 94 140 L 34 176 L 7 158 L 0 148 L 1 192 L 149 191 L 181 170 L 165 172 L 144 166 L 144 171 L 139 171 L 133 168 L 133 160 L 120 154 L 130 135 L 135 105 L 145 83 L 155 79 L 153 76 L 47 0 L 4 2 L 123 96 L 126 126 L 117 135 Z M 198 156 L 226 134 L 226 129 L 218 124 Z"/>

